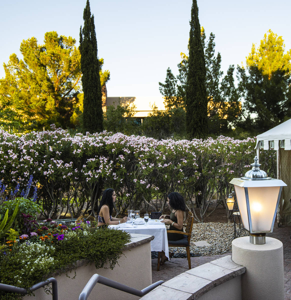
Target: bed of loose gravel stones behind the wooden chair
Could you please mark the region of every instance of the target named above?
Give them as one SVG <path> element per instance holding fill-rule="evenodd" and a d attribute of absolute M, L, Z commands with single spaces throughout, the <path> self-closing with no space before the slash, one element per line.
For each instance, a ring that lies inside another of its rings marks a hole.
<path fill-rule="evenodd" d="M 233 240 L 233 223 L 196 223 L 193 224 L 190 253 L 191 256 L 216 255 L 231 252 Z M 243 232 L 242 232 L 243 233 Z M 195 241 L 207 241 L 210 246 L 196 247 Z M 169 247 L 169 252 L 174 252 L 174 257 L 185 257 L 185 247 Z M 152 258 L 158 257 L 158 252 L 152 253 Z"/>

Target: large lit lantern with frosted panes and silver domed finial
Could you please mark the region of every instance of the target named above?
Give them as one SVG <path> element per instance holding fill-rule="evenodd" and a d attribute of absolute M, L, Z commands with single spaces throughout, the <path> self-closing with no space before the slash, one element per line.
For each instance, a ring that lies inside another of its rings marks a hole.
<path fill-rule="evenodd" d="M 233 178 L 230 183 L 234 184 L 242 224 L 250 232 L 250 243 L 262 245 L 266 242 L 266 232 L 273 231 L 282 187 L 286 184 L 260 170 L 257 156 L 251 166 L 244 177 Z"/>

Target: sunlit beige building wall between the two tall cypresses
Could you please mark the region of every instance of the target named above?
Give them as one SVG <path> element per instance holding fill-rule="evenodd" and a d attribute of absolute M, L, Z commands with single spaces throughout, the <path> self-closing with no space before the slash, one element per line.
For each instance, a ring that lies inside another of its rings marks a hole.
<path fill-rule="evenodd" d="M 135 105 L 137 113 L 135 117 L 147 117 L 152 112 L 152 106 L 158 107 L 158 110 L 166 110 L 163 97 L 107 97 L 107 106 L 118 105 L 119 100 L 124 105 Z"/>

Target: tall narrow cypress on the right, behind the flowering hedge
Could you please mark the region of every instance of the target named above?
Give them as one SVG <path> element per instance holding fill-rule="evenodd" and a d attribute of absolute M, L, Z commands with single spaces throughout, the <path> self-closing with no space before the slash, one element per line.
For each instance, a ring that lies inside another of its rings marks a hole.
<path fill-rule="evenodd" d="M 191 138 L 205 138 L 208 133 L 206 67 L 198 19 L 197 1 L 191 8 L 188 75 L 186 86 L 186 127 Z"/>

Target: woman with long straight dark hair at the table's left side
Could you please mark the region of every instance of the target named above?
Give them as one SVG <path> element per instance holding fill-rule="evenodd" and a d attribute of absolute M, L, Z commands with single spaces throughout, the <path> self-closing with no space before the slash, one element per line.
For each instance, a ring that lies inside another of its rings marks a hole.
<path fill-rule="evenodd" d="M 97 226 L 102 225 L 117 225 L 121 223 L 125 223 L 127 221 L 127 217 L 123 219 L 113 218 L 113 202 L 116 200 L 115 191 L 112 188 L 107 188 L 104 190 L 101 202 L 98 208 L 98 224 Z"/>

